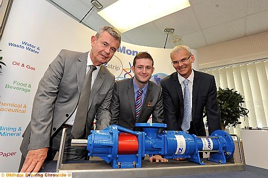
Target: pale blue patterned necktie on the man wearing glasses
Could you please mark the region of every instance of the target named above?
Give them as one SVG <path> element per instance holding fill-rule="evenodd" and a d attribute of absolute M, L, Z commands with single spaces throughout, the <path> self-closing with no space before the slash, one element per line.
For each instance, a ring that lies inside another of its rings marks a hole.
<path fill-rule="evenodd" d="M 190 129 L 190 122 L 191 122 L 191 94 L 190 90 L 188 88 L 188 79 L 185 79 L 183 81 L 184 84 L 184 90 L 183 90 L 183 120 L 182 120 L 182 125 L 181 129 L 183 131 L 187 131 Z"/>

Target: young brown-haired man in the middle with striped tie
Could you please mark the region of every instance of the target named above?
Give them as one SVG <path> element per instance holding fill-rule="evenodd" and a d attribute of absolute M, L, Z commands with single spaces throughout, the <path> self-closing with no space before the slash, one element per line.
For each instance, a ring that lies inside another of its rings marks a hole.
<path fill-rule="evenodd" d="M 151 115 L 153 123 L 163 123 L 162 89 L 150 81 L 154 71 L 152 56 L 138 53 L 132 71 L 134 77 L 115 82 L 110 106 L 111 124 L 139 130 L 134 127 L 135 123 L 147 123 Z M 167 161 L 158 155 L 150 158 L 153 160 Z"/>

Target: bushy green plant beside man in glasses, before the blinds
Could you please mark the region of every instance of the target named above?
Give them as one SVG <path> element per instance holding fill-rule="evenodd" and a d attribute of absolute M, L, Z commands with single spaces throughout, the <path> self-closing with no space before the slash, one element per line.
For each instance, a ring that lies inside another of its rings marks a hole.
<path fill-rule="evenodd" d="M 234 89 L 221 89 L 217 91 L 217 99 L 221 112 L 221 123 L 222 129 L 225 130 L 226 127 L 234 126 L 241 124 L 238 120 L 240 116 L 246 119 L 248 116 L 249 110 L 247 108 L 242 107 L 242 104 L 245 103 L 244 97 L 234 91 Z M 204 117 L 206 116 L 206 112 L 204 109 Z"/>

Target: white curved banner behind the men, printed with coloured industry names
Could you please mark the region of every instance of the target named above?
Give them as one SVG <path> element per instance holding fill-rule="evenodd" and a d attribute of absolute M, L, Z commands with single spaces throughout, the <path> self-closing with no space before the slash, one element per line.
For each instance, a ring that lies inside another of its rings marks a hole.
<path fill-rule="evenodd" d="M 0 41 L 6 66 L 0 73 L 0 172 L 18 171 L 22 133 L 31 119 L 38 82 L 61 49 L 87 52 L 96 32 L 70 18 L 45 0 L 14 0 Z M 157 84 L 175 70 L 171 49 L 121 42 L 105 66 L 115 80 L 134 76 L 134 56 L 148 52 L 154 59 L 151 80 Z M 194 69 L 198 70 L 196 51 Z"/>

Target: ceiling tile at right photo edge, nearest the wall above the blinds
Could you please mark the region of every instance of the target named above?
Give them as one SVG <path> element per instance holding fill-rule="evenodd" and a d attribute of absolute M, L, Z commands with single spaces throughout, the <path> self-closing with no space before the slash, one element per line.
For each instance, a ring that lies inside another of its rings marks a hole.
<path fill-rule="evenodd" d="M 265 31 L 268 31 L 268 10 L 247 17 L 247 36 Z"/>

